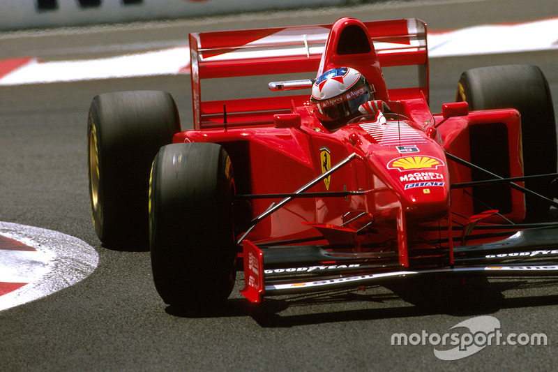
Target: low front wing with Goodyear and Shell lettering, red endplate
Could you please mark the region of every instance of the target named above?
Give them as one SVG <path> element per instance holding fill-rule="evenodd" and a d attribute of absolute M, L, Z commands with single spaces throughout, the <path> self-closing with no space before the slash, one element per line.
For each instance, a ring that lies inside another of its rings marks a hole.
<path fill-rule="evenodd" d="M 335 252 L 320 246 L 257 246 L 243 241 L 245 288 L 259 304 L 265 296 L 378 285 L 418 276 L 556 276 L 558 225 L 520 230 L 494 243 L 454 248 L 454 265 L 409 269 L 386 265 L 381 253 Z"/>

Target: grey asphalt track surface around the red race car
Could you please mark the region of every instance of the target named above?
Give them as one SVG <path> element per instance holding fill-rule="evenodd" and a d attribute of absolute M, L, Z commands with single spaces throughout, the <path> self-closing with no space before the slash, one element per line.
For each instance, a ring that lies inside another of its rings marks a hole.
<path fill-rule="evenodd" d="M 168 22 L 153 32 L 152 24 L 136 24 L 70 35 L 27 33 L 1 40 L 0 55 L 100 57 L 113 53 L 103 45 L 149 44 L 153 49 L 183 43 L 190 31 L 326 23 L 343 15 L 361 20 L 420 17 L 430 29 L 453 29 L 556 16 L 558 5 L 555 0 L 531 1 L 530 6 L 520 0 L 406 2 Z M 463 70 L 499 64 L 540 66 L 558 112 L 558 50 L 434 59 L 432 110 L 453 101 Z M 241 84 L 250 87 L 248 81 Z M 98 268 L 84 281 L 0 312 L 0 371 L 552 371 L 558 365 L 557 280 L 496 282 L 491 291 L 465 297 L 465 304 L 473 306 L 417 307 L 389 290 L 370 288 L 271 299 L 256 311 L 238 293 L 240 274 L 221 311 L 193 315 L 165 306 L 153 287 L 149 252 L 142 246 L 103 248 L 89 214 L 89 104 L 102 92 L 136 89 L 172 93 L 183 128 L 189 127 L 188 75 L 0 88 L 0 221 L 62 232 L 86 241 L 99 254 Z M 216 93 L 204 91 L 207 98 Z M 548 345 L 488 345 L 453 362 L 437 359 L 429 343 L 391 345 L 394 333 L 442 335 L 477 315 L 497 318 L 504 334 L 544 333 Z"/>

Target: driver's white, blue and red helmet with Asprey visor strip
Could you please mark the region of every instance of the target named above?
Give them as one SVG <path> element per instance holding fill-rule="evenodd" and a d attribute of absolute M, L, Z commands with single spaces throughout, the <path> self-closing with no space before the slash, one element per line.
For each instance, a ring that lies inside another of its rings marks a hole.
<path fill-rule="evenodd" d="M 327 70 L 312 84 L 310 102 L 328 128 L 340 128 L 359 116 L 359 107 L 374 99 L 374 91 L 359 71 L 350 67 Z"/>

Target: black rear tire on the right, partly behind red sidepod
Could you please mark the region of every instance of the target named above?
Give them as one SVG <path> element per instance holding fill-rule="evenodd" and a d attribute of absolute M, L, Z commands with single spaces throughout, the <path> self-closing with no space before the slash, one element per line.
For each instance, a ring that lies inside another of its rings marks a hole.
<path fill-rule="evenodd" d="M 555 173 L 557 140 L 554 108 L 548 82 L 540 68 L 508 65 L 473 68 L 462 73 L 457 101 L 467 101 L 470 110 L 515 108 L 521 114 L 525 175 Z M 552 199 L 550 181 L 525 181 L 525 187 Z M 548 202 L 525 195 L 526 221 L 548 214 Z"/>

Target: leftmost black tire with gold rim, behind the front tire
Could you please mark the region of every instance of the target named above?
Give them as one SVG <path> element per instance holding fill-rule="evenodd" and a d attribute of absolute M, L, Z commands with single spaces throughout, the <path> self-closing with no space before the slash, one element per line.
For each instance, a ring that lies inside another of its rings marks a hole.
<path fill-rule="evenodd" d="M 160 147 L 179 133 L 172 96 L 122 91 L 93 98 L 87 123 L 93 227 L 105 246 L 149 245 L 149 171 Z"/>

